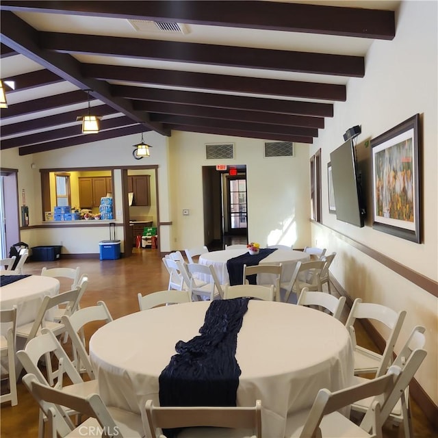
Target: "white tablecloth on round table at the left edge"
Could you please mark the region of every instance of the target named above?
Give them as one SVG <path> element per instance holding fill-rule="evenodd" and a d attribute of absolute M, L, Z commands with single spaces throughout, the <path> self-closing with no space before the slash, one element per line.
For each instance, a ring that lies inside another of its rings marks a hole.
<path fill-rule="evenodd" d="M 0 287 L 1 309 L 17 307 L 17 326 L 27 324 L 35 319 L 42 298 L 54 296 L 60 290 L 60 281 L 50 276 L 31 275 Z M 3 331 L 1 334 L 4 336 Z"/>

